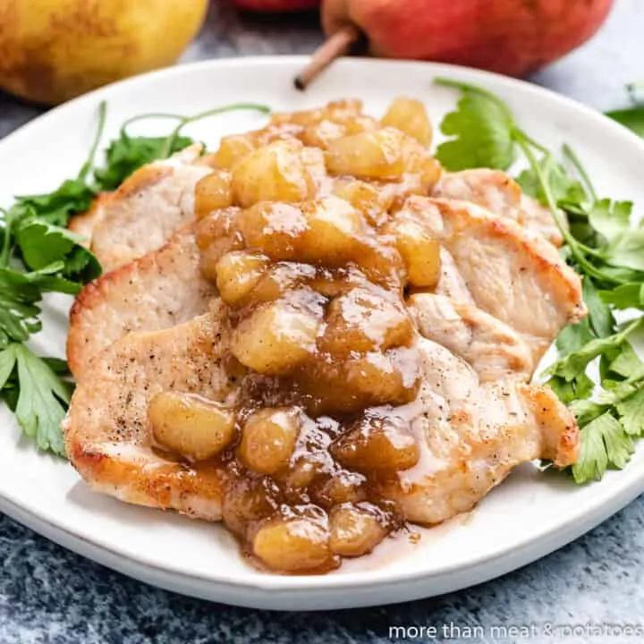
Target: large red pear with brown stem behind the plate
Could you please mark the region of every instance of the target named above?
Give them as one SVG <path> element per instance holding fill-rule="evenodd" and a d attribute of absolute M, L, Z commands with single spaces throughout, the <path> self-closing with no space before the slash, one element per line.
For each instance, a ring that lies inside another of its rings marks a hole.
<path fill-rule="evenodd" d="M 579 47 L 614 0 L 325 0 L 327 36 L 348 25 L 372 54 L 523 76 Z"/>

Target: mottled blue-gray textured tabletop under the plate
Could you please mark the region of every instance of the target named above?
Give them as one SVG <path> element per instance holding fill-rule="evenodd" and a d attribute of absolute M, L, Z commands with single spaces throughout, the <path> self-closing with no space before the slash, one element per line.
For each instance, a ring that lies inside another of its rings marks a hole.
<path fill-rule="evenodd" d="M 644 2 L 617 0 L 606 28 L 586 47 L 534 80 L 589 105 L 625 102 L 623 85 L 644 79 Z M 305 53 L 320 39 L 316 21 L 241 20 L 214 6 L 186 60 Z M 0 137 L 39 113 L 0 94 Z M 0 177 L 1 177 L 0 169 Z M 1 179 L 0 179 L 1 180 Z M 386 642 L 392 625 L 482 627 L 483 639 L 447 631 L 450 641 L 526 641 L 493 636 L 499 624 L 644 623 L 644 499 L 538 563 L 445 597 L 324 614 L 271 614 L 212 605 L 152 589 L 80 558 L 0 518 L 0 643 L 14 642 Z M 419 638 L 416 641 L 430 641 Z M 588 641 L 641 641 L 593 637 Z M 411 641 L 411 640 L 408 640 Z"/>

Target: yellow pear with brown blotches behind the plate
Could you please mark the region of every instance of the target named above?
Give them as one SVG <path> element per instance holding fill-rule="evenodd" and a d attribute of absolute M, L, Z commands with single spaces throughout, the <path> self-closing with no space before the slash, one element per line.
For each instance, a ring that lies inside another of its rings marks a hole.
<path fill-rule="evenodd" d="M 172 64 L 208 0 L 0 0 L 0 88 L 61 103 Z"/>

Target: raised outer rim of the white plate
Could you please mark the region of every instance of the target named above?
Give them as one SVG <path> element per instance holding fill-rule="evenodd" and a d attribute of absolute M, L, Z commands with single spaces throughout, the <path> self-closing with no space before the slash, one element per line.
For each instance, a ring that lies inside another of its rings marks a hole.
<path fill-rule="evenodd" d="M 42 127 L 48 120 L 53 117 L 55 118 L 55 116 L 61 112 L 67 111 L 70 108 L 79 108 L 86 104 L 94 104 L 97 100 L 102 98 L 109 99 L 109 97 L 114 95 L 114 93 L 120 94 L 134 85 L 153 85 L 157 80 L 165 79 L 167 77 L 180 78 L 182 74 L 186 72 L 205 71 L 221 67 L 257 68 L 282 66 L 285 69 L 295 70 L 305 64 L 308 60 L 309 58 L 306 55 L 245 56 L 240 58 L 210 59 L 195 63 L 178 64 L 174 67 L 140 74 L 139 76 L 120 80 L 118 82 L 111 83 L 110 85 L 106 85 L 105 87 L 95 89 L 88 94 L 74 98 L 63 105 L 55 106 L 46 114 L 38 116 L 29 123 L 21 126 L 18 130 L 5 136 L 4 139 L 0 140 L 0 148 L 3 148 L 7 143 L 15 145 L 15 142 L 18 142 L 21 137 L 30 134 L 32 129 Z M 386 67 L 400 69 L 401 71 L 412 68 L 427 70 L 428 91 L 432 87 L 432 78 L 437 75 L 444 75 L 462 80 L 467 78 L 467 80 L 477 81 L 483 85 L 486 85 L 488 81 L 491 81 L 492 84 L 497 87 L 507 89 L 510 93 L 519 92 L 524 96 L 532 96 L 537 100 L 547 101 L 551 105 L 560 106 L 568 111 L 581 114 L 583 118 L 589 120 L 590 124 L 595 124 L 598 128 L 606 130 L 610 136 L 614 137 L 614 139 L 620 143 L 620 145 L 637 148 L 639 150 L 638 154 L 642 157 L 642 165 L 644 165 L 644 141 L 640 140 L 640 138 L 634 133 L 589 106 L 582 105 L 572 98 L 565 97 L 555 91 L 540 87 L 526 80 L 509 78 L 494 72 L 485 72 L 459 65 L 420 61 L 380 60 L 352 57 L 343 58 L 336 61 L 334 64 L 335 68 L 340 69 L 352 67 L 358 68 L 360 66 Z M 640 449 L 644 449 L 644 445 L 641 445 Z M 632 464 L 631 467 L 635 468 L 636 465 Z M 580 507 L 580 510 L 571 513 L 565 524 L 559 524 L 558 526 L 547 530 L 538 530 L 530 536 L 519 538 L 513 546 L 504 547 L 504 549 L 496 552 L 494 555 L 479 555 L 474 557 L 467 563 L 467 566 L 462 566 L 458 563 L 446 564 L 443 566 L 438 564 L 430 572 L 422 569 L 414 572 L 396 572 L 395 569 L 376 569 L 368 572 L 352 572 L 351 574 L 346 575 L 288 576 L 278 574 L 258 574 L 257 572 L 250 572 L 248 575 L 243 576 L 212 576 L 208 574 L 199 574 L 199 572 L 186 570 L 181 566 L 173 566 L 172 564 L 161 565 L 147 557 L 131 555 L 123 549 L 106 546 L 95 538 L 88 536 L 84 530 L 69 530 L 63 525 L 52 521 L 45 513 L 17 504 L 11 498 L 4 495 L 0 495 L 0 504 L 3 506 L 4 512 L 13 516 L 18 521 L 24 522 L 24 524 L 30 526 L 30 528 L 36 531 L 39 531 L 38 529 L 42 528 L 42 533 L 47 538 L 52 538 L 59 543 L 63 541 L 63 539 L 59 538 L 61 535 L 64 535 L 65 542 L 67 541 L 67 538 L 71 539 L 73 546 L 68 544 L 62 545 L 64 545 L 64 547 L 69 547 L 69 549 L 76 550 L 80 555 L 85 555 L 88 549 L 93 551 L 95 555 L 101 551 L 106 553 L 106 555 L 109 555 L 108 557 L 92 555 L 92 558 L 95 558 L 98 561 L 102 558 L 103 562 L 106 562 L 106 559 L 114 556 L 122 561 L 134 564 L 137 568 L 143 567 L 161 574 L 179 575 L 183 579 L 187 580 L 199 580 L 201 582 L 206 581 L 213 585 L 228 585 L 237 589 L 271 590 L 275 592 L 288 592 L 297 589 L 342 589 L 343 591 L 348 591 L 350 589 L 363 589 L 369 585 L 375 584 L 381 586 L 394 586 L 401 584 L 402 582 L 419 581 L 423 579 L 431 580 L 444 577 L 452 572 L 459 572 L 467 569 L 476 570 L 482 564 L 504 562 L 512 558 L 512 567 L 499 566 L 496 572 L 487 572 L 485 575 L 479 574 L 479 579 L 474 582 L 479 583 L 480 581 L 491 579 L 497 574 L 503 574 L 504 572 L 509 572 L 511 569 L 530 563 L 541 556 L 545 556 L 553 552 L 556 548 L 562 547 L 572 541 L 572 539 L 579 538 L 586 531 L 594 528 L 601 521 L 605 521 L 609 516 L 618 512 L 625 504 L 628 504 L 632 499 L 644 492 L 644 470 L 638 474 L 633 473 L 631 470 L 630 476 L 628 476 L 624 471 L 607 472 L 606 474 L 607 478 L 610 479 L 614 476 L 622 476 L 623 484 L 611 486 L 610 493 L 605 494 L 602 494 L 602 492 L 606 490 L 608 486 L 604 485 L 603 482 L 591 484 L 597 488 L 597 495 L 593 497 L 591 502 L 583 504 Z M 604 505 L 609 500 L 616 500 L 617 503 L 611 504 L 610 507 L 606 509 Z M 528 551 L 530 546 L 538 540 L 543 543 L 547 543 L 547 546 L 539 548 L 540 554 L 538 557 L 533 557 Z M 114 565 L 114 562 L 106 564 L 113 568 L 117 567 Z M 170 584 L 168 584 L 168 587 L 170 587 Z"/>

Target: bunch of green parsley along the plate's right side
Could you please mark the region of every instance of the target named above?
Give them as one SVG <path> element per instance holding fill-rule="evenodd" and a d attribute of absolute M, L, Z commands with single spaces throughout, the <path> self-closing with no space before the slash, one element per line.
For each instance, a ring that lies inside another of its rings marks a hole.
<path fill-rule="evenodd" d="M 450 138 L 438 146 L 438 160 L 451 171 L 509 170 L 522 157 L 528 167 L 517 181 L 550 210 L 564 257 L 583 275 L 589 316 L 557 337 L 559 360 L 545 376 L 581 428 L 572 476 L 577 483 L 601 479 L 608 468 L 627 464 L 633 439 L 644 435 L 644 362 L 631 344 L 644 326 L 644 227 L 631 221 L 630 202 L 597 196 L 570 147 L 555 157 L 519 127 L 496 94 L 458 80 L 435 82 L 461 91 L 441 123 Z M 620 324 L 617 309 L 629 309 L 631 320 Z M 597 366 L 597 384 L 591 366 Z"/>

